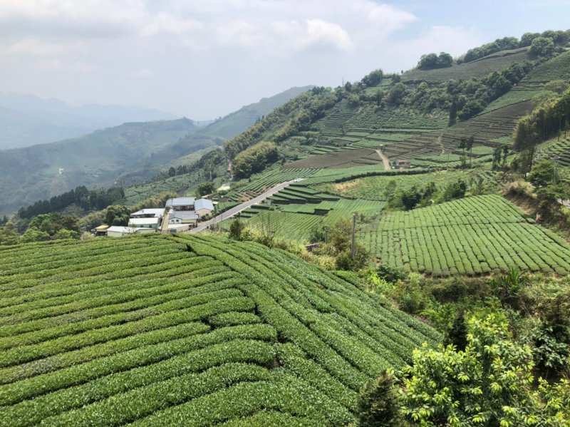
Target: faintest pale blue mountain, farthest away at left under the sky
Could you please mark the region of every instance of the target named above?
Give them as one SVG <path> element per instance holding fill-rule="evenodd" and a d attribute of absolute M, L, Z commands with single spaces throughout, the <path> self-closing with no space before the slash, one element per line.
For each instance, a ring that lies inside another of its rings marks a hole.
<path fill-rule="evenodd" d="M 174 118 L 172 114 L 150 108 L 71 106 L 57 99 L 0 93 L 0 150 L 77 138 L 122 123 Z"/>

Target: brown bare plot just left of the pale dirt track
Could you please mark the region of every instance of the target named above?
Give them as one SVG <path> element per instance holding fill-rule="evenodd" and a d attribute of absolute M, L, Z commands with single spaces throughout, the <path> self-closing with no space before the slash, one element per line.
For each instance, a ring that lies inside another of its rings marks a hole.
<path fill-rule="evenodd" d="M 287 168 L 351 168 L 353 166 L 382 163 L 380 155 L 371 148 L 336 151 L 335 153 L 311 155 L 303 160 L 289 163 Z"/>

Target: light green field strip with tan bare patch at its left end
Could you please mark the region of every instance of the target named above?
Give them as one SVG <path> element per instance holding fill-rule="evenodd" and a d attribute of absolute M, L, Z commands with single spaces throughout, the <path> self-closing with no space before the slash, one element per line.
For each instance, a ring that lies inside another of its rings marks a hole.
<path fill-rule="evenodd" d="M 435 182 L 435 185 L 440 187 L 459 179 L 464 180 L 468 185 L 474 185 L 480 181 L 493 182 L 495 174 L 491 171 L 482 170 L 441 170 L 431 173 L 424 171 L 417 174 L 377 175 L 346 182 L 326 183 L 316 185 L 315 189 L 345 197 L 386 200 L 386 189 L 390 182 L 393 182 L 391 185 L 395 185 L 395 190 L 408 190 L 413 186 L 418 188 L 424 187 L 430 182 Z"/>

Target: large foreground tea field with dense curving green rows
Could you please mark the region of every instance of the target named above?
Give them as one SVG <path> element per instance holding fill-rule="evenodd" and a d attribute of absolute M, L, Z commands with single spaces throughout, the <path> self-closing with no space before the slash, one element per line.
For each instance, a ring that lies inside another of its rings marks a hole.
<path fill-rule="evenodd" d="M 440 336 L 279 250 L 207 237 L 0 250 L 1 426 L 346 425 Z"/>

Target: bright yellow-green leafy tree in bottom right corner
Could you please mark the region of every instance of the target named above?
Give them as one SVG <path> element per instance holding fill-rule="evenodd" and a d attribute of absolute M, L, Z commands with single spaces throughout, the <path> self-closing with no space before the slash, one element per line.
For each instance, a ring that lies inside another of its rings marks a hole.
<path fill-rule="evenodd" d="M 403 413 L 422 426 L 564 426 L 568 409 L 544 399 L 568 384 L 535 391 L 532 351 L 507 321 L 491 314 L 469 322 L 465 351 L 421 349 L 403 378 Z"/>

